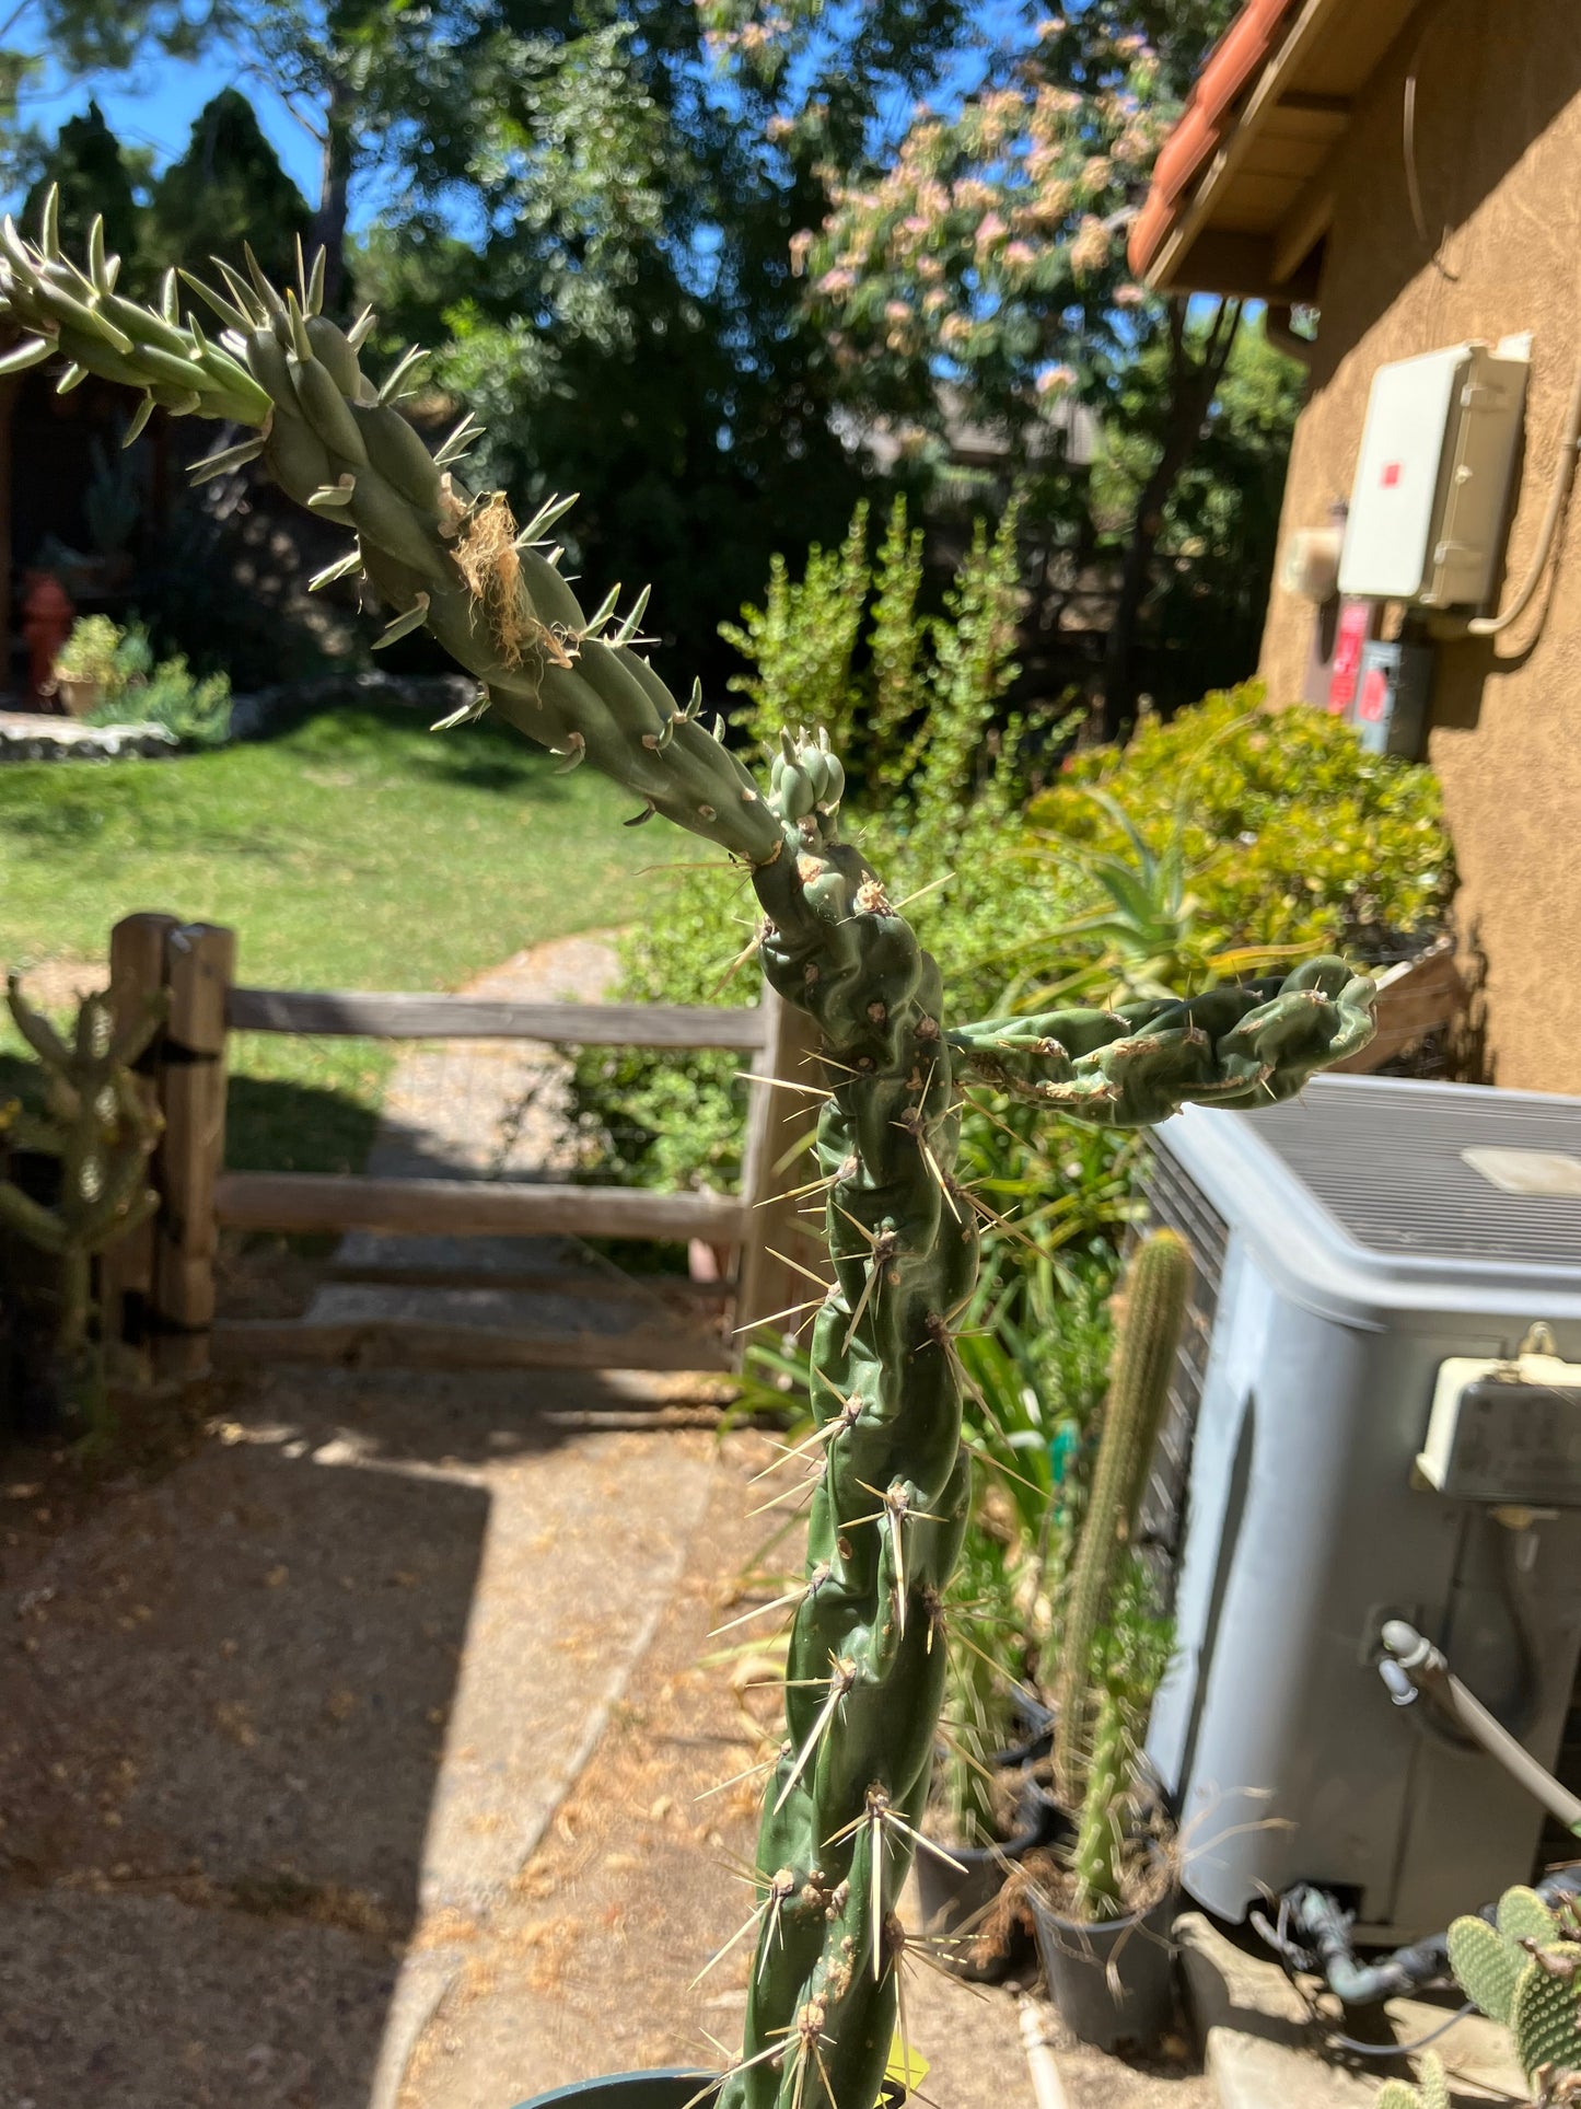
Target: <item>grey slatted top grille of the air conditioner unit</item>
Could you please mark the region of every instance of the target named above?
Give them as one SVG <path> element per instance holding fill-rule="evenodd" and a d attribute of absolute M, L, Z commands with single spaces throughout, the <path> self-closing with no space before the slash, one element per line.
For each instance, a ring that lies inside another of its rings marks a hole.
<path fill-rule="evenodd" d="M 1549 1268 L 1581 1259 L 1581 1198 L 1505 1194 L 1463 1158 L 1492 1147 L 1581 1160 L 1573 1099 L 1320 1078 L 1299 1099 L 1231 1118 L 1250 1122 L 1370 1253 Z"/>

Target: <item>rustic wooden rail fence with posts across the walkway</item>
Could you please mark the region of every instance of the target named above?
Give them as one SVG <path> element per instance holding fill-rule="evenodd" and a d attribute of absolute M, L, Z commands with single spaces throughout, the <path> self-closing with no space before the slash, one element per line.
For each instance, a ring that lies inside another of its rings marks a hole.
<path fill-rule="evenodd" d="M 196 1375 L 211 1358 L 291 1352 L 344 1360 L 367 1348 L 348 1327 L 217 1320 L 219 1232 L 424 1232 L 430 1236 L 700 1238 L 736 1251 L 736 1312 L 769 1316 L 801 1301 L 790 1259 L 814 1263 L 782 1198 L 799 1183 L 809 1099 L 797 1082 L 814 1048 L 807 1021 L 763 987 L 755 1010 L 670 1004 L 500 1004 L 462 995 L 375 995 L 249 989 L 236 983 L 236 934 L 175 915 L 129 915 L 110 941 L 110 979 L 124 1017 L 156 989 L 167 1025 L 139 1063 L 141 1088 L 164 1116 L 152 1160 L 160 1211 L 103 1261 L 112 1339 L 150 1346 L 162 1371 Z M 727 1048 L 757 1078 L 740 1194 L 651 1194 L 635 1187 L 508 1179 L 377 1179 L 223 1168 L 226 1054 L 234 1031 L 335 1033 L 375 1040 L 538 1040 L 554 1046 Z M 367 1329 L 365 1329 L 367 1331 Z M 626 1335 L 487 1335 L 396 1327 L 398 1358 L 472 1367 L 698 1367 L 675 1329 Z M 706 1343 L 704 1343 L 706 1346 Z M 710 1358 L 729 1360 L 723 1352 Z M 704 1365 L 706 1367 L 706 1365 Z"/>

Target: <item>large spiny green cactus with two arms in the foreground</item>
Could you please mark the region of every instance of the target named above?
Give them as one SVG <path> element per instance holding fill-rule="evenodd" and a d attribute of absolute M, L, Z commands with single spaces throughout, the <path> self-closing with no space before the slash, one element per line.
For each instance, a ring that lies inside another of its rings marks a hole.
<path fill-rule="evenodd" d="M 46 207 L 38 247 L 4 224 L 0 312 L 19 369 L 63 359 L 251 434 L 194 466 L 261 460 L 299 504 L 339 521 L 344 563 L 392 620 L 417 626 L 529 738 L 588 761 L 637 801 L 719 844 L 753 877 L 763 972 L 822 1033 L 818 1158 L 833 1289 L 814 1320 L 807 1578 L 790 1632 L 786 1736 L 769 1772 L 757 1860 L 746 2042 L 723 2109 L 873 2109 L 896 2029 L 906 1936 L 900 1888 L 930 1786 L 944 1685 L 942 1594 L 968 1512 L 951 1324 L 976 1274 L 974 1204 L 953 1181 L 959 1088 L 987 1080 L 1107 1124 L 1185 1101 L 1256 1105 L 1362 1046 L 1372 985 L 1339 960 L 1197 1002 L 953 1025 L 936 962 L 862 852 L 839 833 L 843 770 L 816 736 L 784 738 L 765 789 L 725 749 L 702 698 L 677 704 L 643 656 L 639 603 L 586 614 L 559 572 L 550 504 L 516 527 L 504 494 L 449 468 L 462 420 L 430 456 L 398 409 L 409 354 L 375 386 L 320 312 L 323 268 L 276 291 L 247 276 L 188 285 L 217 316 L 183 316 L 175 276 L 156 308 L 116 293 L 95 228 L 84 268 Z M 215 325 L 211 323 L 209 329 Z M 645 599 L 645 597 L 643 597 Z M 460 717 L 474 715 L 470 711 Z M 788 1080 L 801 1084 L 803 1080 Z M 753 1316 L 753 1314 L 746 1314 Z M 746 1932 L 746 1930 L 742 1930 Z"/>

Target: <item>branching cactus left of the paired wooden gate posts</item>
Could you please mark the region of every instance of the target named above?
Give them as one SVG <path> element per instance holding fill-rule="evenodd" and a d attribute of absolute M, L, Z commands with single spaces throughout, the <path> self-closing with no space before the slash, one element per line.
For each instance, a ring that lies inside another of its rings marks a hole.
<path fill-rule="evenodd" d="M 160 1010 L 150 1004 L 116 1031 L 110 995 L 84 995 L 76 1029 L 63 1040 L 27 1004 L 15 974 L 6 1004 L 44 1069 L 42 1111 L 17 1107 L 8 1135 L 17 1147 L 59 1160 L 59 1194 L 44 1204 L 0 1179 L 0 1223 L 57 1261 L 53 1358 L 65 1392 L 93 1421 L 103 1390 L 93 1346 L 93 1261 L 158 1208 L 148 1158 L 160 1118 L 143 1103 L 131 1065 L 158 1031 Z"/>

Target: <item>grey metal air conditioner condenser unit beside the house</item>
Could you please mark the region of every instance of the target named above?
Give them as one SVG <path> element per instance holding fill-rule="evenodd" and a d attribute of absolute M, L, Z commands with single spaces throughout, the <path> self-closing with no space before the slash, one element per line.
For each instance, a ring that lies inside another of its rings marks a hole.
<path fill-rule="evenodd" d="M 1528 1879 L 1543 1816 L 1391 1702 L 1385 1620 L 1568 1763 L 1581 1396 L 1497 1386 L 1533 1327 L 1539 1375 L 1581 1362 L 1581 1099 L 1332 1078 L 1155 1143 L 1153 1213 L 1197 1259 L 1143 1516 L 1185 1888 L 1242 1919 L 1315 1883 L 1360 1940 L 1414 1940 Z"/>

